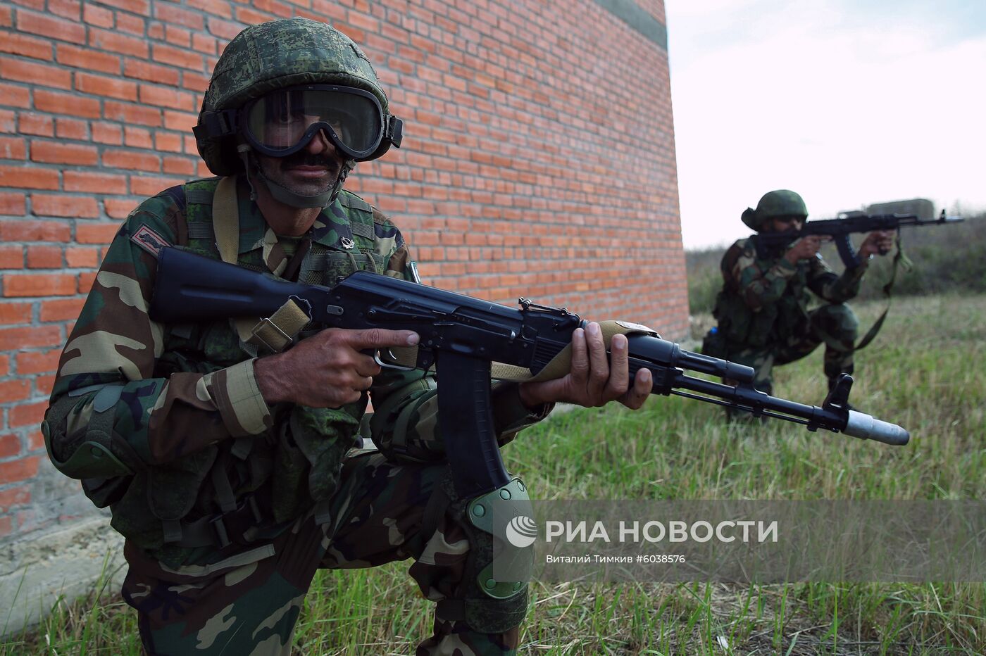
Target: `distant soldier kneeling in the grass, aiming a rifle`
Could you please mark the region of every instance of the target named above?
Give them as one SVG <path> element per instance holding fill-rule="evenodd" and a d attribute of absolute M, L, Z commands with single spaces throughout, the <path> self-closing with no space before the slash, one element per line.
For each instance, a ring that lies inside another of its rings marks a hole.
<path fill-rule="evenodd" d="M 796 232 L 808 219 L 802 197 L 770 191 L 742 222 L 757 232 Z M 718 326 L 703 353 L 752 366 L 754 386 L 773 393 L 772 368 L 809 355 L 825 343 L 825 376 L 831 389 L 840 373 L 852 373 L 859 321 L 846 300 L 859 294 L 870 259 L 893 244 L 892 231 L 871 232 L 859 249 L 861 264 L 835 275 L 818 253 L 821 237 L 798 239 L 785 249 L 763 252 L 756 235 L 740 239 L 723 256 L 723 290 L 713 315 Z M 809 310 L 809 291 L 827 301 Z"/>

